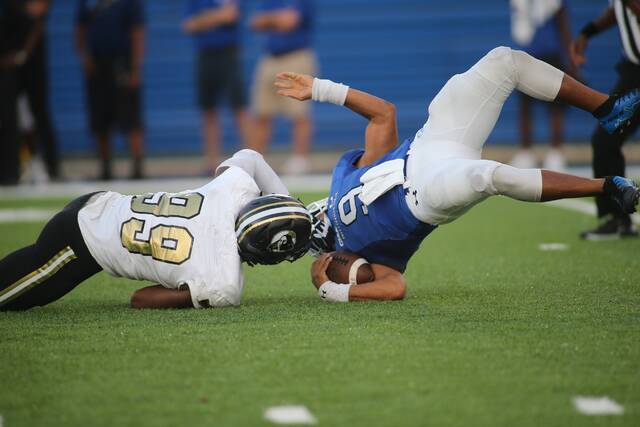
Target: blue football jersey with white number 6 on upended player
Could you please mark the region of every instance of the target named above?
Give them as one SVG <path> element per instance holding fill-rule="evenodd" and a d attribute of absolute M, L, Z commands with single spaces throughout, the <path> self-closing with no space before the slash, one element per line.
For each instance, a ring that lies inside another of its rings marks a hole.
<path fill-rule="evenodd" d="M 358 197 L 362 191 L 360 177 L 383 162 L 406 160 L 410 145 L 407 140 L 362 168 L 355 165 L 363 149 L 348 151 L 338 160 L 327 203 L 327 215 L 336 234 L 336 250 L 355 252 L 371 263 L 404 272 L 422 240 L 436 228 L 413 216 L 402 185 L 396 185 L 368 206 Z"/>

